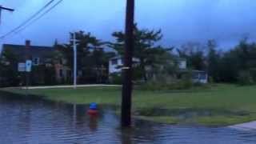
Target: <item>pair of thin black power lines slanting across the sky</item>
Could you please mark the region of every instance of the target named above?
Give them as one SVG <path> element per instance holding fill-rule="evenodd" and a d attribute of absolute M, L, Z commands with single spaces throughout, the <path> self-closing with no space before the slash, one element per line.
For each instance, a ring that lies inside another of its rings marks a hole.
<path fill-rule="evenodd" d="M 28 22 L 30 22 L 31 20 L 33 20 L 33 18 L 35 18 L 36 16 L 38 16 L 38 14 L 40 14 L 43 10 L 45 10 L 48 6 L 50 6 L 50 4 L 54 2 L 54 0 L 50 0 L 50 2 L 47 2 L 45 6 L 42 6 L 42 8 L 40 10 L 38 10 L 35 14 L 33 14 L 30 18 L 26 19 L 25 22 L 22 22 L 22 24 L 20 24 L 19 26 L 17 26 L 16 28 L 14 28 L 13 30 L 10 30 L 10 32 L 2 35 L 0 38 L 5 38 L 7 35 L 14 33 L 16 30 L 22 28 L 22 26 L 25 26 Z"/>

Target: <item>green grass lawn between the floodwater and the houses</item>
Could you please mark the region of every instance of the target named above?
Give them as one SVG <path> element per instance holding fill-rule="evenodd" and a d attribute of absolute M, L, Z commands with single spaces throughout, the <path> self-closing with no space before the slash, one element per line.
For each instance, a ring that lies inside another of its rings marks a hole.
<path fill-rule="evenodd" d="M 25 90 L 6 88 L 12 93 Z M 120 106 L 121 87 L 30 90 L 42 98 Z M 134 90 L 133 114 L 154 122 L 227 126 L 256 120 L 256 86 L 218 84 L 208 88 L 177 91 Z"/>

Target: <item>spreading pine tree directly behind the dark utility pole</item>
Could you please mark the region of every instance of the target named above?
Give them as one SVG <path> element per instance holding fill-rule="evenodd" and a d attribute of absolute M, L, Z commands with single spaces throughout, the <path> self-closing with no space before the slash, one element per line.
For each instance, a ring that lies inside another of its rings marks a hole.
<path fill-rule="evenodd" d="M 122 31 L 114 32 L 113 37 L 116 42 L 109 42 L 109 46 L 118 52 L 121 56 L 124 54 L 125 34 Z M 138 58 L 140 63 L 138 69 L 142 71 L 142 78 L 146 81 L 147 66 L 157 66 L 162 63 L 162 55 L 168 54 L 168 50 L 162 46 L 156 46 L 156 43 L 162 39 L 161 30 L 139 30 L 134 28 L 134 58 Z"/>

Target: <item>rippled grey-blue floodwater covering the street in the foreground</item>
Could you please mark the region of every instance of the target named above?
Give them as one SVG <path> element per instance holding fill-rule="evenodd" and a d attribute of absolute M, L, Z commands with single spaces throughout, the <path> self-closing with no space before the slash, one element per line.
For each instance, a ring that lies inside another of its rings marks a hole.
<path fill-rule="evenodd" d="M 226 127 L 172 126 L 134 120 L 132 128 L 123 130 L 114 108 L 101 107 L 98 118 L 87 115 L 87 108 L 2 95 L 0 143 L 256 143 L 256 130 Z"/>

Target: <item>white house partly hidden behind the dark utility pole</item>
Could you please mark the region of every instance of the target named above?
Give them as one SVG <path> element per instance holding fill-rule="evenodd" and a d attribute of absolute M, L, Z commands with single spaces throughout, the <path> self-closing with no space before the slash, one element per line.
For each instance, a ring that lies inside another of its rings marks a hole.
<path fill-rule="evenodd" d="M 138 58 L 133 58 L 134 66 L 138 64 L 140 61 Z M 117 56 L 114 58 L 110 58 L 109 61 L 109 74 L 121 73 L 122 66 L 124 65 L 124 60 L 121 56 Z"/>

